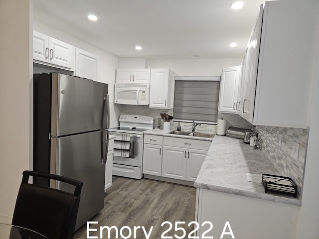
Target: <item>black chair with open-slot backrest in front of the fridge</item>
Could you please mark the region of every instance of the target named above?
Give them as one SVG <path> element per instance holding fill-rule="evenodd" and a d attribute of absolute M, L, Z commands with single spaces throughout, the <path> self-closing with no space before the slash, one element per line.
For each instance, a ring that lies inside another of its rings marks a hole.
<path fill-rule="evenodd" d="M 29 184 L 29 176 L 74 185 L 74 193 Z M 82 182 L 71 178 L 24 171 L 15 203 L 12 225 L 31 229 L 48 239 L 73 239 L 82 186 Z"/>

